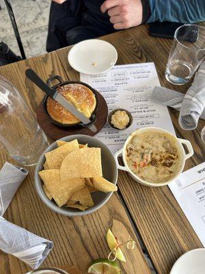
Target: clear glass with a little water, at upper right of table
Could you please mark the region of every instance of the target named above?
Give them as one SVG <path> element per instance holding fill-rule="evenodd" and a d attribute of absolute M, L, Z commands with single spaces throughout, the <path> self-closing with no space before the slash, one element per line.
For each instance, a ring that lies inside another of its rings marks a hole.
<path fill-rule="evenodd" d="M 205 27 L 194 24 L 176 29 L 165 71 L 167 81 L 182 85 L 191 79 L 205 56 Z"/>

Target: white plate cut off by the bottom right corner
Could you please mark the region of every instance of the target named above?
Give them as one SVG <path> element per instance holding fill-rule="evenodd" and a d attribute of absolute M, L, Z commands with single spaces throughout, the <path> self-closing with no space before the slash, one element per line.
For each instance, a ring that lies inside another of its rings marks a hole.
<path fill-rule="evenodd" d="M 170 274 L 204 274 L 205 249 L 193 249 L 184 253 L 174 266 Z"/>

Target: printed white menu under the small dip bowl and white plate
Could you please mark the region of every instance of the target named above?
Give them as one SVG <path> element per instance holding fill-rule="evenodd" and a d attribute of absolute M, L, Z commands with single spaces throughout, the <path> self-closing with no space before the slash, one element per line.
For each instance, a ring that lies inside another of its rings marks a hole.
<path fill-rule="evenodd" d="M 124 108 L 133 115 L 133 124 L 128 129 L 115 130 L 106 123 L 96 135 L 113 153 L 121 149 L 128 135 L 139 127 L 163 127 L 174 133 L 167 107 L 151 99 L 154 86 L 160 86 L 154 63 L 113 66 L 100 75 L 81 73 L 81 81 L 100 92 L 109 111 Z"/>

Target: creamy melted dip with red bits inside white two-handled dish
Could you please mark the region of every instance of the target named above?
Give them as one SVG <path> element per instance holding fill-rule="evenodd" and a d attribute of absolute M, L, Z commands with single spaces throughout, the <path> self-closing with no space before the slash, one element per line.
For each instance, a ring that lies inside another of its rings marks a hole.
<path fill-rule="evenodd" d="M 162 132 L 141 132 L 126 147 L 126 163 L 141 179 L 150 183 L 167 182 L 180 169 L 176 140 Z"/>

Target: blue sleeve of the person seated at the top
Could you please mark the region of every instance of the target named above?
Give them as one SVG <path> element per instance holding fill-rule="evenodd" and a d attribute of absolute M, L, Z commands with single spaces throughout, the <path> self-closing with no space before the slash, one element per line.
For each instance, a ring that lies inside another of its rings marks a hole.
<path fill-rule="evenodd" d="M 150 18 L 154 21 L 195 23 L 205 21 L 205 0 L 148 0 Z"/>

